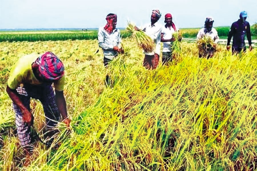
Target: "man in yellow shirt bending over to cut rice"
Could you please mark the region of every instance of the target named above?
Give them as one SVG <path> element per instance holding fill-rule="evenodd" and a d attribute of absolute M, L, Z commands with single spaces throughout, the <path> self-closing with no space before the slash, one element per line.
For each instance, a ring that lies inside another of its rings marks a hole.
<path fill-rule="evenodd" d="M 69 127 L 71 121 L 67 117 L 63 95 L 64 79 L 63 63 L 52 52 L 39 57 L 37 54 L 23 56 L 13 65 L 6 91 L 13 101 L 17 134 L 26 155 L 32 150 L 30 127 L 34 117 L 30 111 L 31 98 L 39 99 L 43 105 L 48 135 L 53 134 L 52 128 L 59 121 L 60 113 L 63 123 Z"/>

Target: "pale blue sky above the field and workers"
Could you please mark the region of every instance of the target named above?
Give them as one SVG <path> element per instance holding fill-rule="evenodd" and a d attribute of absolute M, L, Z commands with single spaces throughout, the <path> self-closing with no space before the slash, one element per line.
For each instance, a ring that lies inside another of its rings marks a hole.
<path fill-rule="evenodd" d="M 244 10 L 250 25 L 257 21 L 256 0 L 0 0 L 0 29 L 98 28 L 108 13 L 117 14 L 117 27 L 126 27 L 127 19 L 140 26 L 156 8 L 162 13 L 159 23 L 171 13 L 180 28 L 203 27 L 207 16 L 214 27 L 230 26 Z"/>

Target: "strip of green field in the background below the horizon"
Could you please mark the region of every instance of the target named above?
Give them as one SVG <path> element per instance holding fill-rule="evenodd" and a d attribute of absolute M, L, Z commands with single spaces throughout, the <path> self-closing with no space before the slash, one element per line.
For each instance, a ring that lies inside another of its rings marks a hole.
<path fill-rule="evenodd" d="M 227 37 L 230 27 L 216 27 L 220 37 Z M 200 28 L 182 28 L 184 38 L 196 38 Z M 98 30 L 53 30 L 53 31 L 1 31 L 0 42 L 18 42 L 18 41 L 57 41 L 57 40 L 94 40 L 97 39 Z M 252 39 L 256 39 L 256 27 L 252 26 Z M 130 36 L 126 30 L 121 30 L 122 38 Z"/>

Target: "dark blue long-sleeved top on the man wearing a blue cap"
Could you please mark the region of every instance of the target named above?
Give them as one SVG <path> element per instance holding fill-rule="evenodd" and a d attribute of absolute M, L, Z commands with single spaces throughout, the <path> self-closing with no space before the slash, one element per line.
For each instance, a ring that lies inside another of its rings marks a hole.
<path fill-rule="evenodd" d="M 242 44 L 244 44 L 245 34 L 247 36 L 249 45 L 251 45 L 252 42 L 251 42 L 250 24 L 247 21 L 242 22 L 239 19 L 238 21 L 234 22 L 231 25 L 231 28 L 228 32 L 227 46 L 229 46 L 232 36 L 233 36 L 233 46 L 234 47 L 242 46 Z"/>

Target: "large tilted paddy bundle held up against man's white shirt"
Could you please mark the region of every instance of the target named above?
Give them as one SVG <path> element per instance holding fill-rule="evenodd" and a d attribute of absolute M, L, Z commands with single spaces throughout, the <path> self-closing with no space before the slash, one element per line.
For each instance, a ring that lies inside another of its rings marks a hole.
<path fill-rule="evenodd" d="M 132 37 L 136 40 L 138 46 L 145 52 L 152 52 L 155 48 L 154 41 L 142 30 L 135 30 L 134 25 L 128 22 L 126 30 L 132 33 Z"/>

